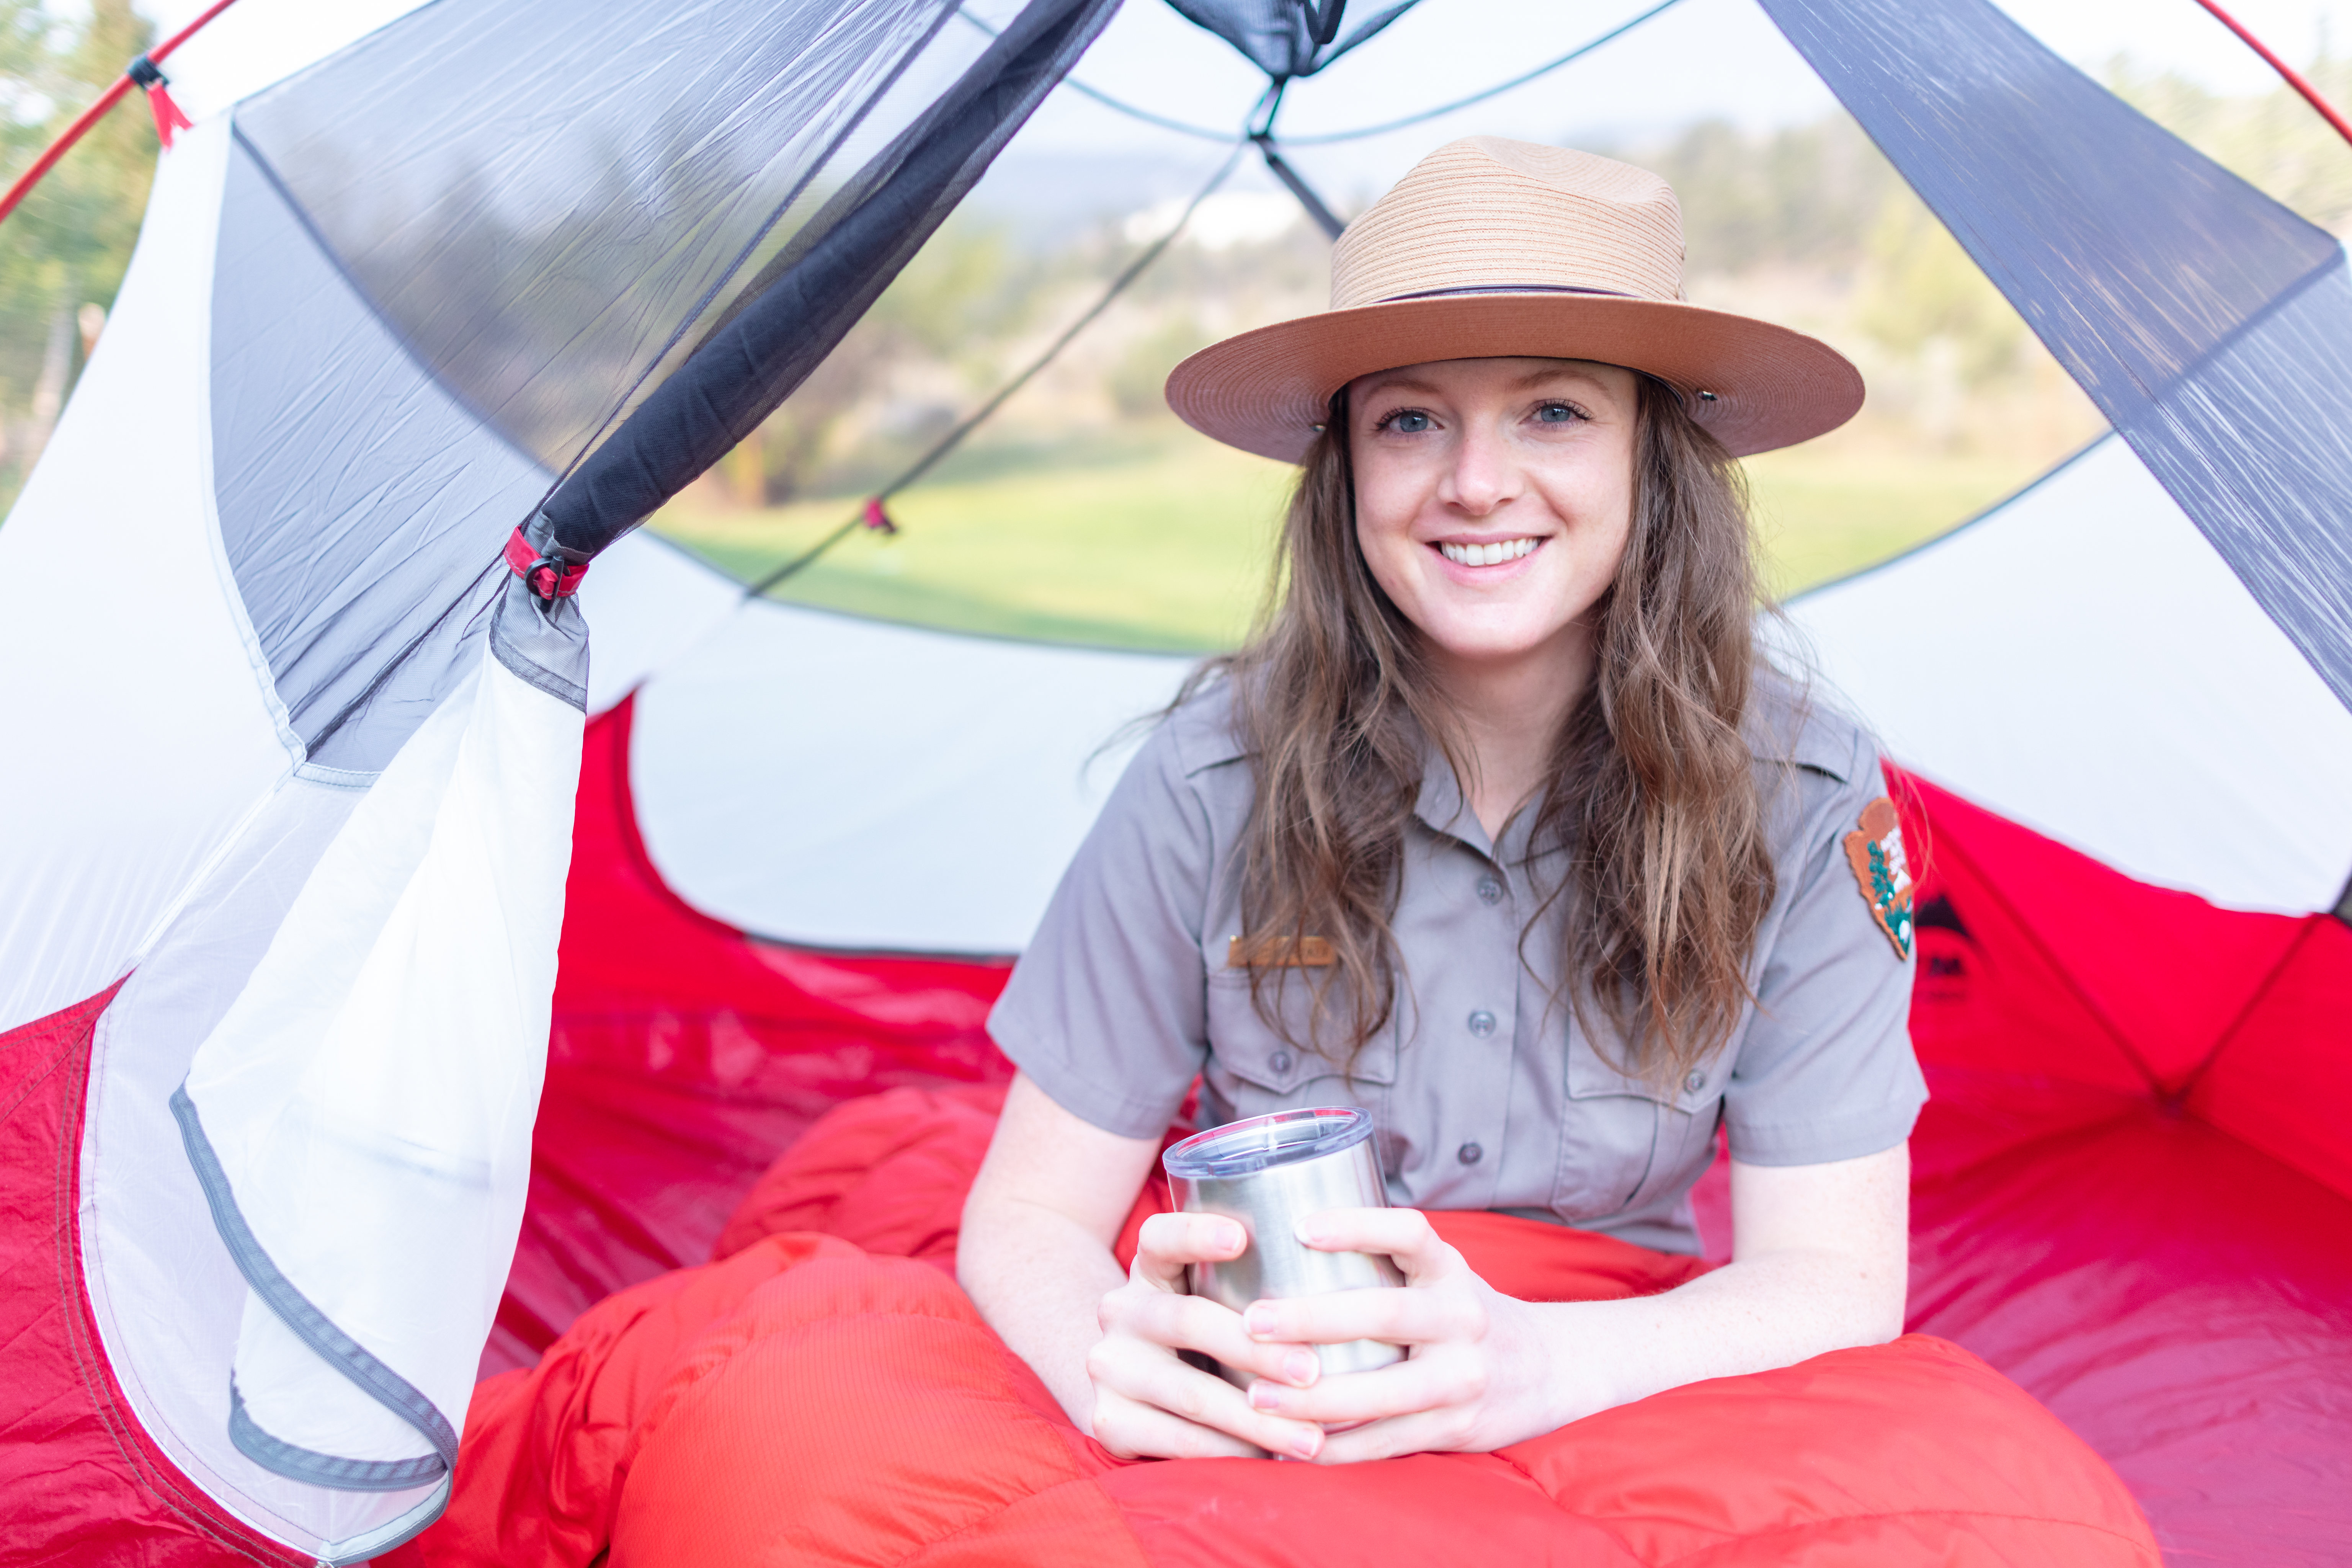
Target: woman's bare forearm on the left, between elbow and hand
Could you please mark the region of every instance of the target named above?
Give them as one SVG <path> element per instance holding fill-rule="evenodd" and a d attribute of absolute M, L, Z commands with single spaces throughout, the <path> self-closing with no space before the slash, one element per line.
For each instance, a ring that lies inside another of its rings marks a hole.
<path fill-rule="evenodd" d="M 955 1276 L 981 1316 L 1061 1401 L 1080 1432 L 1094 1432 L 1087 1352 L 1103 1338 L 1103 1295 L 1127 1274 L 1096 1237 L 1051 1208 L 1021 1199 L 976 1201 L 964 1211 Z"/>

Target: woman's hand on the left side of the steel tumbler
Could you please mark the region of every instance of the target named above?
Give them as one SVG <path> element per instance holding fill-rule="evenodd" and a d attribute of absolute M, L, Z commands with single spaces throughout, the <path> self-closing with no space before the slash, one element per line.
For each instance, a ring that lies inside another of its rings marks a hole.
<path fill-rule="evenodd" d="M 1103 1298 L 1103 1338 L 1087 1352 L 1094 1439 L 1110 1453 L 1127 1460 L 1265 1453 L 1312 1460 L 1322 1453 L 1324 1434 L 1312 1420 L 1251 1408 L 1242 1389 L 1176 1354 L 1216 1356 L 1256 1373 L 1256 1387 L 1298 1392 L 1315 1385 L 1312 1349 L 1282 1335 L 1251 1335 L 1230 1307 L 1185 1295 L 1188 1262 L 1225 1262 L 1240 1258 L 1244 1244 L 1240 1222 L 1223 1215 L 1162 1213 L 1143 1222 L 1136 1262 L 1127 1284 Z"/>

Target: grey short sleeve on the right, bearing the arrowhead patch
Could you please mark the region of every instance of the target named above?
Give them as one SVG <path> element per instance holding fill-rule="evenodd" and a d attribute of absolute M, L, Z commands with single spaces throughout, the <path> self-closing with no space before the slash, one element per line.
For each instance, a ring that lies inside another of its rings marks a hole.
<path fill-rule="evenodd" d="M 1811 809 L 1799 853 L 1780 860 L 1780 877 L 1795 882 L 1724 1086 L 1740 1164 L 1877 1154 L 1910 1138 L 1926 1103 L 1910 1044 L 1915 961 L 1879 929 L 1846 860 L 1844 835 L 1886 792 L 1867 738 L 1856 736 L 1853 750 L 1844 778 L 1804 771 Z"/>

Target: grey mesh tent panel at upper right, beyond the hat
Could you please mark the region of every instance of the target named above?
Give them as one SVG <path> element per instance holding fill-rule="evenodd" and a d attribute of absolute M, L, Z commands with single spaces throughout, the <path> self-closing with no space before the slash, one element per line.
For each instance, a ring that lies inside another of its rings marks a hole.
<path fill-rule="evenodd" d="M 2343 247 L 1985 0 L 1764 9 L 2352 703 Z"/>

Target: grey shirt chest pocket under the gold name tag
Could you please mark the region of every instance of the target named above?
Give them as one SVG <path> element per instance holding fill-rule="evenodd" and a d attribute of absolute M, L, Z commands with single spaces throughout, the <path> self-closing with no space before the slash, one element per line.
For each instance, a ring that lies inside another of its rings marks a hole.
<path fill-rule="evenodd" d="M 1336 1046 L 1324 1053 L 1296 1044 L 1310 1039 L 1308 1018 L 1315 1011 L 1315 990 L 1305 973 L 1291 971 L 1287 983 L 1268 976 L 1265 997 L 1284 1023 L 1282 1030 L 1258 1018 L 1247 971 L 1209 971 L 1202 1126 L 1211 1126 L 1211 1117 L 1240 1121 L 1305 1105 L 1359 1105 L 1385 1128 L 1388 1095 L 1397 1086 L 1395 1025 L 1364 1041 L 1350 1070 L 1343 1067 L 1345 1053 Z M 1345 1009 L 1345 1001 L 1336 1006 Z"/>

